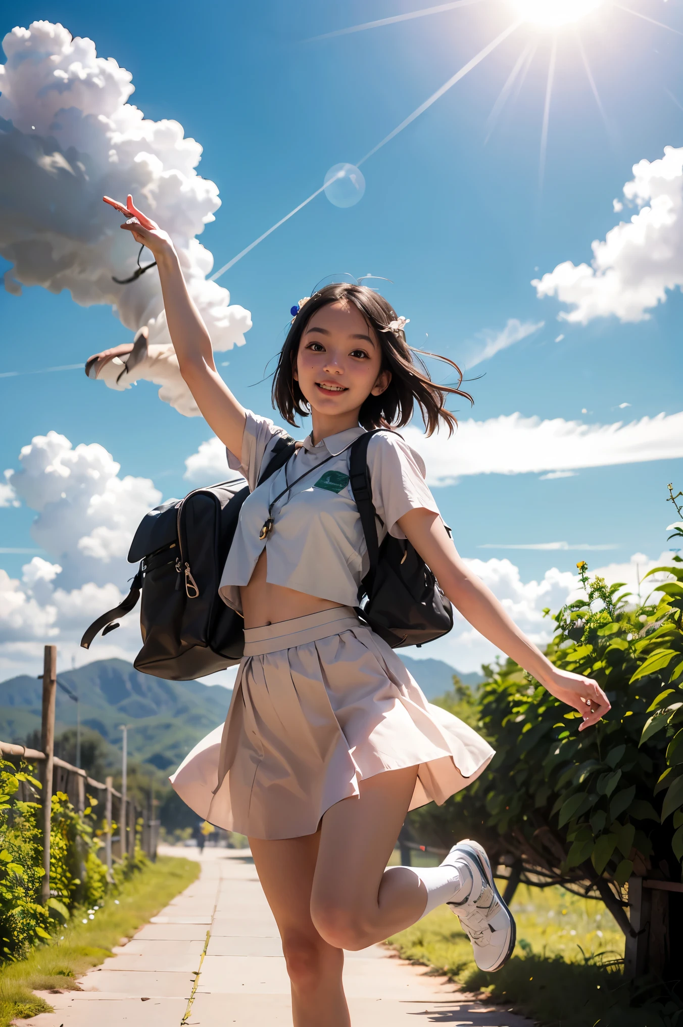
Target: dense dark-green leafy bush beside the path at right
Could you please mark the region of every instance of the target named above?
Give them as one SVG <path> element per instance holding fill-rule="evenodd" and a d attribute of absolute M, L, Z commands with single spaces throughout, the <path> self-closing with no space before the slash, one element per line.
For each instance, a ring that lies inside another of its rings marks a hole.
<path fill-rule="evenodd" d="M 683 521 L 670 527 L 671 538 L 683 537 Z M 577 565 L 585 596 L 554 616 L 546 655 L 594 678 L 611 712 L 579 732 L 580 715 L 513 660 L 485 669 L 480 729 L 496 756 L 444 806 L 411 814 L 421 841 L 471 834 L 510 865 L 514 880 L 601 898 L 624 933 L 633 873 L 681 879 L 683 560 L 674 562 L 650 571 L 671 577 L 644 603 Z"/>

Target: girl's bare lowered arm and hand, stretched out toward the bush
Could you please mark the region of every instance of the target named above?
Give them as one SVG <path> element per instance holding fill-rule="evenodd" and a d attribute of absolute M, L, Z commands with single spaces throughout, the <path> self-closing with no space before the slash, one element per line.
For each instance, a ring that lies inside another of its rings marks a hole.
<path fill-rule="evenodd" d="M 443 592 L 472 627 L 533 675 L 552 695 L 581 714 L 579 731 L 604 717 L 610 703 L 598 683 L 554 667 L 529 641 L 493 593 L 468 570 L 438 514 L 413 509 L 397 523 L 431 568 Z"/>

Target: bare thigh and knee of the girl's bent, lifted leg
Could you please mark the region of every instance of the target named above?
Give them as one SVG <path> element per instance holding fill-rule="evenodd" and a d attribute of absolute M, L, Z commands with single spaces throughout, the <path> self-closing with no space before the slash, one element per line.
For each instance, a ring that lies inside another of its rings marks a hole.
<path fill-rule="evenodd" d="M 388 863 L 415 788 L 417 767 L 361 783 L 322 817 L 311 917 L 332 946 L 357 950 L 415 923 L 427 891 L 405 867 Z"/>

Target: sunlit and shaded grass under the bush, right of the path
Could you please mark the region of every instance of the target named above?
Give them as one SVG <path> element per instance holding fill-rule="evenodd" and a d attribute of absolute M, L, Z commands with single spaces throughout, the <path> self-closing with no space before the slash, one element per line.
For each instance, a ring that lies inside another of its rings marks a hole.
<path fill-rule="evenodd" d="M 501 890 L 503 884 L 498 882 Z M 623 957 L 623 935 L 601 903 L 561 887 L 520 885 L 511 910 L 517 947 L 497 974 L 478 969 L 467 938 L 445 907 L 388 943 L 404 958 L 446 973 L 465 990 L 484 992 L 548 1027 L 594 1027 L 597 1022 L 607 1027 L 611 1021 L 604 1018 L 615 1005 L 618 1027 L 661 1027 L 667 1022 L 625 1009 L 620 966 L 608 965 Z"/>

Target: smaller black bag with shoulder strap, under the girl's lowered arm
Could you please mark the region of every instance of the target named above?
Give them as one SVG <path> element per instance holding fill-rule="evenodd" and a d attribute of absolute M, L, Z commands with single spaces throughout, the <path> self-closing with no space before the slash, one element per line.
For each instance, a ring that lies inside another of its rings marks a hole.
<path fill-rule="evenodd" d="M 356 612 L 392 649 L 409 645 L 419 647 L 451 631 L 453 608 L 434 575 L 407 539 L 387 534 L 382 544 L 378 544 L 368 474 L 368 445 L 381 430 L 377 428 L 361 435 L 351 446 L 349 455 L 351 492 L 361 515 L 370 558 L 370 570 L 358 589 Z"/>

